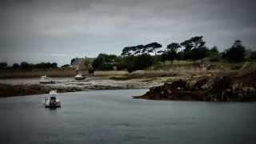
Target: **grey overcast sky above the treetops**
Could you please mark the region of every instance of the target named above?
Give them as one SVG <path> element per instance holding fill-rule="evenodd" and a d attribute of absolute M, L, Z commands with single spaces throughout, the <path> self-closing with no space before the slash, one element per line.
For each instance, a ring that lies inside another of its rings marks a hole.
<path fill-rule="evenodd" d="M 124 46 L 203 35 L 256 46 L 255 0 L 0 0 L 0 62 L 70 63 Z"/>

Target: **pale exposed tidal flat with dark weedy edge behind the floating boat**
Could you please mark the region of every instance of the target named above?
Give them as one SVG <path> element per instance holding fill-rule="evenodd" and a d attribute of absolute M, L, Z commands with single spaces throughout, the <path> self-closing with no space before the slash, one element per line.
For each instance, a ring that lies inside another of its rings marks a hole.
<path fill-rule="evenodd" d="M 26 96 L 32 94 L 48 94 L 50 90 L 59 93 L 88 91 L 88 90 L 130 90 L 148 89 L 158 86 L 162 82 L 144 82 L 146 79 L 131 79 L 126 81 L 111 80 L 108 78 L 90 77 L 76 81 L 74 78 L 54 78 L 54 84 L 39 84 L 37 78 L 0 79 L 0 98 Z"/>

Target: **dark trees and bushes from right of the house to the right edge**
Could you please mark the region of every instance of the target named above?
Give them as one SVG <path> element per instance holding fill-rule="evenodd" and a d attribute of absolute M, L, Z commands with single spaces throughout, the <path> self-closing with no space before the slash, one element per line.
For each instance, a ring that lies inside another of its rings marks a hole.
<path fill-rule="evenodd" d="M 120 56 L 114 54 L 99 54 L 92 63 L 94 70 L 142 70 L 153 66 L 158 62 L 174 60 L 186 60 L 201 62 L 207 59 L 210 62 L 221 60 L 227 62 L 243 62 L 246 60 L 246 47 L 241 40 L 236 40 L 233 45 L 224 50 L 218 51 L 218 47 L 209 48 L 203 36 L 195 36 L 183 42 L 171 42 L 165 48 L 158 42 L 151 42 L 146 45 L 126 46 L 122 49 Z M 250 60 L 256 60 L 256 51 L 250 53 Z"/>

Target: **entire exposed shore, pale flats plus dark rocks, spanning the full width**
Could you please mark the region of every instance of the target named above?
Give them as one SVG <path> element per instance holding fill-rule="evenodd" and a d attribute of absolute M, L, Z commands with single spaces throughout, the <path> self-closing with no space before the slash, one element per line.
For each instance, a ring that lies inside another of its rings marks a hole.
<path fill-rule="evenodd" d="M 134 98 L 208 102 L 256 101 L 256 66 L 246 62 L 239 70 L 207 70 L 206 67 L 171 70 L 95 72 L 86 80 L 54 78 L 54 84 L 39 84 L 38 78 L 0 80 L 0 97 L 86 90 L 149 89 Z"/>

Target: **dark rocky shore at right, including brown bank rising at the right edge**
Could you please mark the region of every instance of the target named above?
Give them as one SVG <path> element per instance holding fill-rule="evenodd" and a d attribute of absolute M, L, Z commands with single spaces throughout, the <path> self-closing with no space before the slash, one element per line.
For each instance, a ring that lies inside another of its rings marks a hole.
<path fill-rule="evenodd" d="M 153 86 L 134 98 L 206 102 L 255 102 L 256 65 L 245 63 L 238 71 L 192 75 L 162 86 Z"/>

